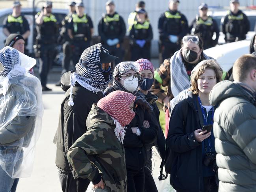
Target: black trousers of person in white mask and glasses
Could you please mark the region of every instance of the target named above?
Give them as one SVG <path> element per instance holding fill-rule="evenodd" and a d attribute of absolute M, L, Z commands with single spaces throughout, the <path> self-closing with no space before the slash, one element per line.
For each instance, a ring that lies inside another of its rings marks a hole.
<path fill-rule="evenodd" d="M 127 192 L 143 192 L 144 183 L 144 169 L 136 171 L 127 168 Z"/>

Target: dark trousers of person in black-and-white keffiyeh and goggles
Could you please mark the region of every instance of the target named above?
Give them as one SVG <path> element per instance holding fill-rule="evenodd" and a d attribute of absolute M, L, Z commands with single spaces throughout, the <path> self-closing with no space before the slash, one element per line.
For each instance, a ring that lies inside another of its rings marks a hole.
<path fill-rule="evenodd" d="M 71 173 L 68 175 L 59 173 L 59 179 L 63 192 L 85 192 L 90 184 L 89 179 L 74 179 Z"/>

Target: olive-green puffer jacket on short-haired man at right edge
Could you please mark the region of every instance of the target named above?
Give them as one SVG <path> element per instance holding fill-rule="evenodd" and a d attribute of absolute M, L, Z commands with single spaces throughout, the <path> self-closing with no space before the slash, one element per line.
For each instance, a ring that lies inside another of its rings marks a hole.
<path fill-rule="evenodd" d="M 210 94 L 219 192 L 256 192 L 256 106 L 252 94 L 231 81 Z"/>

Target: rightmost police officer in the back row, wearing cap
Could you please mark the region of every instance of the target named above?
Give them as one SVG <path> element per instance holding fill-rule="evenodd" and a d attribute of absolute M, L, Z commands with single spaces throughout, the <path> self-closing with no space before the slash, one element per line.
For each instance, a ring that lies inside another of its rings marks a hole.
<path fill-rule="evenodd" d="M 247 16 L 239 10 L 238 0 L 230 1 L 230 11 L 221 19 L 221 23 L 226 43 L 245 39 L 250 29 Z"/>

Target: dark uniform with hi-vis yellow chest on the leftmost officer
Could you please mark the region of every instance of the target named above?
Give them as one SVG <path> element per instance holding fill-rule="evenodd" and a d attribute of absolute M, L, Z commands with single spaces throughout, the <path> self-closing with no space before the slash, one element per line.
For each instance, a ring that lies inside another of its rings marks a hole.
<path fill-rule="evenodd" d="M 7 28 L 11 34 L 23 35 L 27 31 L 30 31 L 28 20 L 23 15 L 19 17 L 8 15 L 8 17 L 4 19 L 3 28 Z M 25 45 L 27 45 L 27 43 L 28 40 L 25 39 Z"/>

